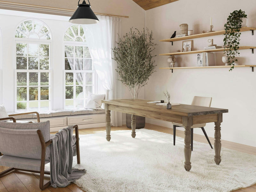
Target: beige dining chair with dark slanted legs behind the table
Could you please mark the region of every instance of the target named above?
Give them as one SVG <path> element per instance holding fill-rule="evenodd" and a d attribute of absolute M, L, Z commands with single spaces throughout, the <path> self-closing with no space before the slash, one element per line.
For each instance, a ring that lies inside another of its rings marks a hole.
<path fill-rule="evenodd" d="M 212 98 L 211 97 L 198 97 L 195 96 L 191 105 L 196 105 L 196 106 L 203 106 L 203 107 L 210 107 L 212 103 Z M 173 145 L 175 145 L 175 137 L 176 137 L 176 127 L 184 127 L 182 124 L 178 124 L 178 123 L 172 123 L 173 124 Z M 202 131 L 204 132 L 204 135 L 208 141 L 208 143 L 210 144 L 211 148 L 212 148 L 212 144 L 204 130 L 204 126 L 206 125 L 206 123 L 202 123 L 202 124 L 194 124 L 193 126 L 191 126 L 191 149 L 193 151 L 193 129 L 194 128 L 201 128 Z"/>

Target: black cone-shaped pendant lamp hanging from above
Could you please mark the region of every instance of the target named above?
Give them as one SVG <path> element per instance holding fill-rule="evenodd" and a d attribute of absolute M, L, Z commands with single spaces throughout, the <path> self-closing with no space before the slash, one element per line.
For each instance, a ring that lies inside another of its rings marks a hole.
<path fill-rule="evenodd" d="M 89 4 L 86 4 L 85 0 L 82 4 L 79 4 L 79 1 L 78 8 L 70 18 L 69 22 L 76 24 L 94 24 L 100 22 L 91 9 L 90 1 L 88 0 Z"/>

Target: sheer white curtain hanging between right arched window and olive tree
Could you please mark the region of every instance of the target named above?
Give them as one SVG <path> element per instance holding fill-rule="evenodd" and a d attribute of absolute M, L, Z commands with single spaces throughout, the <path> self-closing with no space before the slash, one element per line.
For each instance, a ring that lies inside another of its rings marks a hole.
<path fill-rule="evenodd" d="M 118 89 L 117 64 L 112 60 L 112 48 L 116 46 L 118 34 L 122 33 L 122 18 L 99 16 L 97 24 L 83 25 L 86 35 L 86 42 L 91 53 L 92 62 L 95 71 L 98 74 L 100 83 L 109 90 L 109 99 L 117 99 L 121 96 L 121 90 Z M 113 126 L 122 125 L 122 114 L 118 112 L 111 113 Z"/>

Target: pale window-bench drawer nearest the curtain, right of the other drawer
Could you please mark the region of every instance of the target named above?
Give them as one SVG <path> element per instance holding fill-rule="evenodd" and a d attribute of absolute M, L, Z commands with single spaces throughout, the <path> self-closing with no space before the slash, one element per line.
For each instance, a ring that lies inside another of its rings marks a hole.
<path fill-rule="evenodd" d="M 84 115 L 84 116 L 68 116 L 67 118 L 68 118 L 68 125 L 103 123 L 103 122 L 106 121 L 105 114 Z"/>

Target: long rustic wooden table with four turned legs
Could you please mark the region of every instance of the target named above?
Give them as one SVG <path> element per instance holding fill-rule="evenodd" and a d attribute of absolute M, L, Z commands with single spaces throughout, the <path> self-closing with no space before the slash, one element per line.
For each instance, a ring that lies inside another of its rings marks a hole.
<path fill-rule="evenodd" d="M 139 99 L 120 99 L 120 100 L 102 100 L 105 105 L 106 112 L 106 132 L 107 141 L 110 141 L 111 135 L 111 118 L 110 111 L 118 111 L 122 113 L 132 114 L 132 137 L 135 138 L 136 132 L 136 115 L 144 116 L 173 123 L 182 124 L 185 128 L 184 137 L 184 155 L 185 163 L 184 168 L 186 171 L 191 169 L 191 126 L 193 124 L 210 123 L 214 122 L 215 134 L 214 134 L 214 161 L 217 165 L 221 162 L 220 150 L 221 150 L 221 134 L 220 124 L 222 122 L 222 114 L 228 113 L 228 109 L 202 107 L 194 105 L 180 104 L 172 106 L 172 109 L 166 109 L 166 106 L 156 105 L 155 103 L 148 103 L 150 100 Z"/>

